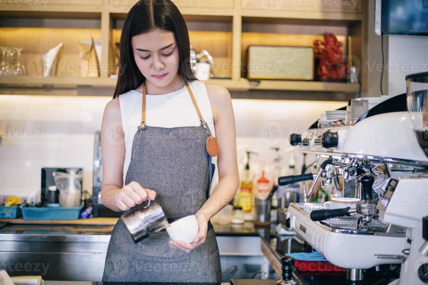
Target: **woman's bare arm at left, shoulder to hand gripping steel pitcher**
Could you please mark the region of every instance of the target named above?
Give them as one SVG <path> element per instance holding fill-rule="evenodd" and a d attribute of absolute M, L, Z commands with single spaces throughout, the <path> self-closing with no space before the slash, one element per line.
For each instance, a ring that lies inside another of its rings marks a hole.
<path fill-rule="evenodd" d="M 107 103 L 101 123 L 101 151 L 103 157 L 103 184 L 101 202 L 113 211 L 125 211 L 156 192 L 144 189 L 137 182 L 123 185 L 123 164 L 125 162 L 125 135 L 120 114 L 119 97 Z"/>

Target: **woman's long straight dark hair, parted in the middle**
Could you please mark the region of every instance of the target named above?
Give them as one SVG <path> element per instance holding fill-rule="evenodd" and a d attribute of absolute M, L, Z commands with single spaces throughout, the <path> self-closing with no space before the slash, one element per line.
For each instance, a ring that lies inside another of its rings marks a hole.
<path fill-rule="evenodd" d="M 135 63 L 131 38 L 154 28 L 174 33 L 180 62 L 177 74 L 184 82 L 197 80 L 190 68 L 189 32 L 177 6 L 171 0 L 140 0 L 129 10 L 123 24 L 119 43 L 119 76 L 113 99 L 137 88 L 146 79 Z"/>

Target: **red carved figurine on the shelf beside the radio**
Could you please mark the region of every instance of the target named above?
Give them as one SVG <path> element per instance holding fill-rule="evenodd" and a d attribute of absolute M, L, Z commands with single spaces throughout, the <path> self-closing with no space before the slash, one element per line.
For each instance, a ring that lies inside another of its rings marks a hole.
<path fill-rule="evenodd" d="M 324 45 L 324 48 L 321 45 Z M 314 41 L 315 59 L 318 59 L 318 80 L 346 82 L 346 62 L 343 59 L 342 45 L 333 33 L 325 34 L 324 41 Z"/>

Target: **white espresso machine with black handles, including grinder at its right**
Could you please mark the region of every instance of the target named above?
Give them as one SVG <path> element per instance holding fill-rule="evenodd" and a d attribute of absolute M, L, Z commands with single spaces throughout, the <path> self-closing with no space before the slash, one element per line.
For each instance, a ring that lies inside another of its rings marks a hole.
<path fill-rule="evenodd" d="M 320 179 L 323 185 L 335 176 L 355 182 L 355 208 L 292 203 L 285 223 L 328 261 L 348 269 L 350 282 L 361 282 L 364 269 L 396 264 L 396 284 L 428 284 L 428 234 L 422 227 L 428 216 L 427 82 L 428 73 L 408 76 L 407 97 L 380 103 L 352 126 L 291 135 L 301 153 L 316 155 L 319 170 L 280 177 L 280 185 L 313 179 L 303 193 L 309 198 Z"/>

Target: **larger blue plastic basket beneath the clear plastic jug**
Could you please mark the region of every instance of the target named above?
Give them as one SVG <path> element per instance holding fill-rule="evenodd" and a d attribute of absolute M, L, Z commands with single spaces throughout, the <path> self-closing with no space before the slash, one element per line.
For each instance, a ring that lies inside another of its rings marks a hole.
<path fill-rule="evenodd" d="M 60 208 L 59 204 L 47 204 L 47 207 L 21 206 L 24 220 L 77 220 L 83 204 L 76 208 Z"/>

